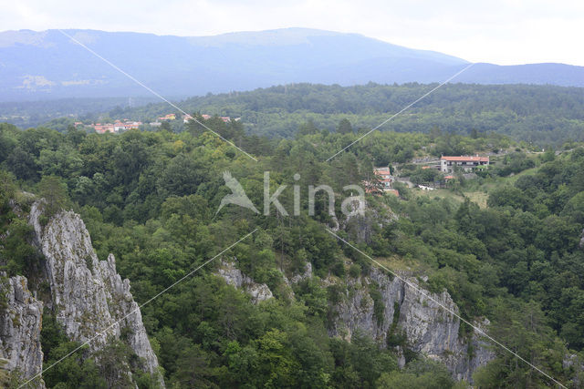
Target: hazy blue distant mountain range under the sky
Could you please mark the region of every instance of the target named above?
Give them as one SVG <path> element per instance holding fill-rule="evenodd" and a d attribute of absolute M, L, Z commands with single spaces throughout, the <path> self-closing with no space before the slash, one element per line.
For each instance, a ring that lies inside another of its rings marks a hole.
<path fill-rule="evenodd" d="M 65 32 L 166 97 L 297 82 L 430 83 L 469 64 L 357 34 L 306 28 L 201 37 Z M 476 64 L 454 82 L 584 87 L 584 67 Z M 57 30 L 0 33 L 0 92 L 0 101 L 150 96 Z"/>

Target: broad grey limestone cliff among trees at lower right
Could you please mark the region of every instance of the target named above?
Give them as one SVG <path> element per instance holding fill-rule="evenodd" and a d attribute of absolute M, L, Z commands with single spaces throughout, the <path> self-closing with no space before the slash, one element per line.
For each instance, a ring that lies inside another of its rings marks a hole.
<path fill-rule="evenodd" d="M 408 278 L 408 282 L 418 284 L 414 278 Z M 376 302 L 370 296 L 371 283 L 381 295 L 377 303 L 382 304 L 382 314 L 375 314 Z M 448 292 L 427 294 L 458 314 L 458 307 Z M 331 335 L 349 338 L 351 333 L 360 329 L 385 343 L 388 333 L 400 332 L 410 350 L 443 362 L 458 380 L 472 381 L 474 370 L 495 356 L 478 333 L 473 333 L 470 339 L 461 339 L 460 321 L 453 314 L 406 282 L 391 279 L 376 268 L 371 269 L 368 277 L 348 282 L 347 293 L 336 306 L 336 312 L 338 315 L 330 330 Z M 488 321 L 477 325 L 484 327 Z"/>

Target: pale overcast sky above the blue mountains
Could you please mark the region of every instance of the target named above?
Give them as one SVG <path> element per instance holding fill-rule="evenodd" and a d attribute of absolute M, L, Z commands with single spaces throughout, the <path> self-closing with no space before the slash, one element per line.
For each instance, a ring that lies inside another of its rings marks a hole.
<path fill-rule="evenodd" d="M 309 27 L 501 65 L 584 66 L 584 1 L 0 0 L 0 29 L 206 36 Z"/>

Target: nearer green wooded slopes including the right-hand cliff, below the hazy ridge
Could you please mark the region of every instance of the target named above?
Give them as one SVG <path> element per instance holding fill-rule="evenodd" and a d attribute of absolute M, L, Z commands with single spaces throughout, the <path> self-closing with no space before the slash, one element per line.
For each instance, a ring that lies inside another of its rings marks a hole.
<path fill-rule="evenodd" d="M 325 162 L 358 135 L 307 127 L 295 139 L 270 140 L 245 135 L 239 122 L 212 119 L 206 124 L 254 153 L 258 162 L 193 124 L 181 134 L 60 134 L 6 125 L 0 134 L 0 163 L 15 176 L 3 173 L 0 189 L 13 188 L 16 179 L 52 203 L 71 201 L 99 259 L 116 255 L 116 267 L 130 279 L 137 302 L 148 301 L 257 229 L 221 258 L 231 263 L 225 271 L 234 275 L 233 282 L 218 276 L 225 265 L 217 261 L 143 307 L 144 326 L 155 340 L 169 386 L 391 387 L 412 382 L 452 387 L 448 361 L 452 368 L 485 355 L 468 326 L 374 269 L 327 227 L 338 228 L 343 239 L 412 278 L 438 301 L 453 309 L 454 303 L 466 320 L 488 318 L 488 333 L 562 383 L 577 382 L 578 353 L 584 347 L 581 147 L 537 158 L 533 177 L 515 183 L 494 177 L 507 175 L 505 164 L 486 170 L 476 182 L 494 187 L 483 209 L 471 201 L 414 198 L 411 189 L 398 186 L 399 198 L 367 196 L 360 217 L 340 212 L 341 200 L 349 196 L 343 188 L 371 179 L 373 165 L 403 164 L 447 148 L 476 153 L 508 150 L 511 144 L 501 137 L 374 133 Z M 509 164 L 515 161 L 518 167 L 508 174 L 532 166 L 520 158 Z M 266 170 L 271 193 L 287 185 L 279 200 L 288 211 L 294 209 L 292 187 L 299 185 L 300 215 L 277 215 L 275 207 L 268 216 L 255 215 L 235 205 L 217 213 L 224 195 L 231 193 L 224 186 L 225 170 L 256 206 L 263 202 Z M 336 218 L 328 213 L 324 193 L 317 196 L 314 216 L 308 215 L 308 186 L 323 183 L 337 193 Z M 453 190 L 464 192 L 472 181 L 458 179 L 456 185 Z M 9 197 L 3 199 L 8 207 Z M 10 276 L 36 266 L 34 256 L 14 255 L 27 252 L 18 244 L 26 241 L 21 227 L 10 222 L 10 233 L 2 234 Z M 265 291 L 264 286 L 272 298 L 267 292 L 261 299 L 245 292 Z M 422 343 L 417 337 L 422 333 L 408 328 L 410 319 L 420 324 L 416 329 L 430 329 Z M 431 346 L 443 345 L 443 339 L 450 339 L 452 348 Z M 424 351 L 436 353 L 443 363 L 424 358 Z M 549 384 L 503 349 L 492 351 L 495 358 L 474 371 L 475 384 Z M 64 366 L 53 378 L 68 382 L 76 366 Z M 94 377 L 85 379 L 90 384 Z"/>

